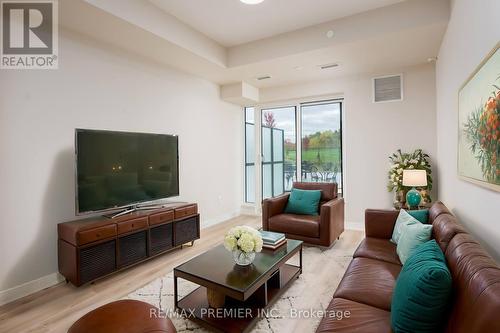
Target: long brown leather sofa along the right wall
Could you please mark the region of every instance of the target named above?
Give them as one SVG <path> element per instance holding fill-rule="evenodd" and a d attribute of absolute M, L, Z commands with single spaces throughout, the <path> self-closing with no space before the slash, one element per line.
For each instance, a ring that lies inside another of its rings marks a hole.
<path fill-rule="evenodd" d="M 392 292 L 402 267 L 396 245 L 389 241 L 397 216 L 398 211 L 365 212 L 366 238 L 328 306 L 350 315 L 341 320 L 325 316 L 316 332 L 391 332 Z M 441 202 L 430 208 L 429 223 L 453 278 L 453 301 L 443 332 L 500 332 L 498 264 Z"/>

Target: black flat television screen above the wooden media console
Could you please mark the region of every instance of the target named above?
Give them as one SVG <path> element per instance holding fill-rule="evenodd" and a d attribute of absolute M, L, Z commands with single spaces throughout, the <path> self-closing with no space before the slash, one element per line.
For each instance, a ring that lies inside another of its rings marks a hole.
<path fill-rule="evenodd" d="M 174 135 L 76 130 L 77 214 L 179 195 Z"/>

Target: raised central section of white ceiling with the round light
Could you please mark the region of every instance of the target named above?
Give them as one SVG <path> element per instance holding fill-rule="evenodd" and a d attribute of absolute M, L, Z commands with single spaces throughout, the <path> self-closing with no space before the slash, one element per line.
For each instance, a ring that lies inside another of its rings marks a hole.
<path fill-rule="evenodd" d="M 405 0 L 150 0 L 180 21 L 230 47 Z"/>

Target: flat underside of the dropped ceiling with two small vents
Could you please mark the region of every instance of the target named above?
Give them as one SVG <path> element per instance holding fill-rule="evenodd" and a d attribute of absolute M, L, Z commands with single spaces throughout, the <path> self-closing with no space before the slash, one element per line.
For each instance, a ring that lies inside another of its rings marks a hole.
<path fill-rule="evenodd" d="M 347 45 L 235 67 L 226 72 L 225 80 L 234 82 L 243 78 L 255 87 L 269 88 L 360 73 L 395 74 L 396 69 L 424 64 L 428 58 L 435 57 L 445 29 L 445 25 L 433 25 L 397 31 Z M 340 66 L 325 70 L 318 67 L 327 63 Z M 256 76 L 261 75 L 270 75 L 271 79 L 256 80 Z"/>

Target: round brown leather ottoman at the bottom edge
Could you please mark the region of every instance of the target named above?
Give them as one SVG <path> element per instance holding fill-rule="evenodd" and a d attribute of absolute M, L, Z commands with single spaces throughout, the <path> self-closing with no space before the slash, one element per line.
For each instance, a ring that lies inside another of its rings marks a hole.
<path fill-rule="evenodd" d="M 121 300 L 103 305 L 78 319 L 68 333 L 176 333 L 170 319 L 151 304 Z"/>

